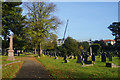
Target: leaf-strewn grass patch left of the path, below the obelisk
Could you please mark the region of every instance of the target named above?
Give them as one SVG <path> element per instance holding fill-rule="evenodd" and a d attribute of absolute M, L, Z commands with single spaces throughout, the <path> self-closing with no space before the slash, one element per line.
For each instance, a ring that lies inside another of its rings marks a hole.
<path fill-rule="evenodd" d="M 17 62 L 17 63 L 13 63 L 13 64 L 9 64 L 7 66 L 5 66 L 5 64 L 8 63 L 12 63 L 12 62 L 16 62 L 18 60 L 14 60 L 14 61 L 7 61 L 8 56 L 2 56 L 2 78 L 14 78 L 15 77 L 15 73 L 18 72 L 18 70 L 20 69 L 21 65 L 23 64 L 23 61 L 21 62 Z M 15 56 L 15 58 L 18 58 L 17 56 Z"/>

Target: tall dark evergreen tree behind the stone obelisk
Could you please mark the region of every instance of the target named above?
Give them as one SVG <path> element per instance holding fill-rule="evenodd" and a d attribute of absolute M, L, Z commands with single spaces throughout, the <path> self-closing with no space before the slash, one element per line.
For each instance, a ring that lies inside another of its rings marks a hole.
<path fill-rule="evenodd" d="M 23 27 L 25 16 L 22 16 L 22 8 L 19 7 L 22 2 L 2 2 L 2 37 L 4 38 L 3 44 L 3 53 L 4 49 L 7 47 L 7 39 L 10 35 L 10 32 L 14 33 L 14 38 L 21 38 L 23 34 Z M 13 44 L 19 43 L 17 40 L 13 41 Z M 21 39 L 23 40 L 23 39 Z M 18 40 L 19 41 L 19 40 Z M 22 44 L 22 43 L 21 43 Z M 17 45 L 16 47 L 19 47 Z"/>

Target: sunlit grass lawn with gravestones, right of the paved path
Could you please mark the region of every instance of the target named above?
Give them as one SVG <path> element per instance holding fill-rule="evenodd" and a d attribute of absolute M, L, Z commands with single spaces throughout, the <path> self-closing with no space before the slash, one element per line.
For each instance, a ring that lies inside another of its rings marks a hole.
<path fill-rule="evenodd" d="M 81 67 L 82 65 L 76 63 L 77 59 L 68 59 L 69 63 L 64 63 L 63 58 L 44 56 L 37 58 L 45 68 L 50 72 L 53 78 L 118 78 L 118 68 L 105 67 L 105 63 L 96 57 L 94 66 Z M 113 63 L 118 64 L 118 58 L 113 58 Z M 119 61 L 120 62 L 120 61 Z"/>

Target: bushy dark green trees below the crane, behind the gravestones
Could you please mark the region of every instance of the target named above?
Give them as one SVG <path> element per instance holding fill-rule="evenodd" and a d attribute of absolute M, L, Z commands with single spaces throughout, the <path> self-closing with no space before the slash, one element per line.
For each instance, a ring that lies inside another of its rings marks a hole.
<path fill-rule="evenodd" d="M 73 39 L 72 37 L 67 37 L 64 41 L 62 46 L 57 47 L 58 51 L 60 51 L 60 56 L 74 56 L 76 57 L 78 54 L 81 55 L 82 52 L 89 51 L 89 43 L 85 42 L 78 42 L 77 40 Z"/>

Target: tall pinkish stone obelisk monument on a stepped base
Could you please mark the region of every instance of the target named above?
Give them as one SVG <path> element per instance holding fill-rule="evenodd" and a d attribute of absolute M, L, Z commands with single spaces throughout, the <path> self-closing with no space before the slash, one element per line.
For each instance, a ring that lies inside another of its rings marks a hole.
<path fill-rule="evenodd" d="M 8 61 L 15 60 L 14 58 L 14 50 L 13 50 L 13 39 L 12 35 L 10 36 L 10 44 L 9 44 L 9 50 L 8 50 Z"/>

